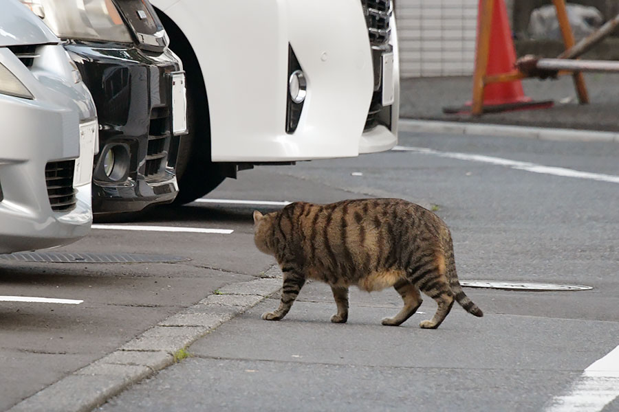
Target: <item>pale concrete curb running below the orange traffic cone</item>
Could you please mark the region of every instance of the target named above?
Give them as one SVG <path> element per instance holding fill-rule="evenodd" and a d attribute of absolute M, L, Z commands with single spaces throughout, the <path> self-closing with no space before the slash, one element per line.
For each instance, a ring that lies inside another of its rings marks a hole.
<path fill-rule="evenodd" d="M 412 133 L 457 133 L 461 135 L 525 137 L 552 141 L 604 141 L 619 143 L 619 133 L 530 126 L 507 126 L 439 120 L 400 119 L 398 129 Z"/>

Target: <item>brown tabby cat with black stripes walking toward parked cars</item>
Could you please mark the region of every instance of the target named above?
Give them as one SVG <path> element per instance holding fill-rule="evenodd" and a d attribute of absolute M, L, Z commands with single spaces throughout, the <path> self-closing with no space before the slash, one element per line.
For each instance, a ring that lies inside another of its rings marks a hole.
<path fill-rule="evenodd" d="M 400 325 L 422 304 L 420 290 L 438 308 L 421 328 L 438 328 L 456 300 L 477 317 L 483 312 L 462 291 L 445 223 L 420 205 L 400 199 L 358 199 L 329 205 L 296 202 L 280 211 L 254 211 L 254 242 L 283 271 L 281 303 L 263 319 L 279 321 L 306 279 L 329 284 L 338 308 L 332 322 L 348 319 L 348 288 L 371 292 L 393 286 L 404 301 L 383 325 Z"/>

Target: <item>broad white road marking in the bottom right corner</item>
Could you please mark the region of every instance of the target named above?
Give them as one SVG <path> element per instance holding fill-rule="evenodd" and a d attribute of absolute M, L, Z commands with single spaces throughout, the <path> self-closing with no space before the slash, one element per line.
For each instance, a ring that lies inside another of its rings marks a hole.
<path fill-rule="evenodd" d="M 555 396 L 546 412 L 599 412 L 619 397 L 619 346 L 592 363 L 572 389 Z"/>

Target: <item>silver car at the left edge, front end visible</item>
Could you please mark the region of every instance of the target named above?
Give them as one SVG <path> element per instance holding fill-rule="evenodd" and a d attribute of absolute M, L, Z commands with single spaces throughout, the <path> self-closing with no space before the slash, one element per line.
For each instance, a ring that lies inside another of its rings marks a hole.
<path fill-rule="evenodd" d="M 23 4 L 0 13 L 0 253 L 85 236 L 98 123 L 58 38 Z"/>

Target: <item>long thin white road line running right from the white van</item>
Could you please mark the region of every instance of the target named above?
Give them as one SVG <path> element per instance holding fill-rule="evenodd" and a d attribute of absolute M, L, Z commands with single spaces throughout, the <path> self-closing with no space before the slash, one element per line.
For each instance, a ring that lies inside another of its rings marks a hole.
<path fill-rule="evenodd" d="M 471 155 L 468 153 L 458 152 L 440 152 L 439 150 L 433 150 L 428 148 L 415 148 L 406 146 L 395 146 L 392 150 L 399 152 L 416 152 L 426 155 L 435 155 L 439 157 L 448 157 L 450 159 L 459 159 L 467 161 L 477 161 L 480 163 L 490 163 L 492 165 L 506 166 L 508 168 L 517 170 L 526 170 L 527 172 L 552 174 L 554 176 L 574 177 L 577 179 L 590 179 L 595 181 L 603 181 L 609 183 L 619 183 L 619 176 L 612 174 L 601 174 L 591 172 L 580 172 L 579 170 L 556 168 L 553 166 L 538 165 L 535 163 L 529 163 L 526 161 L 517 161 L 510 159 L 503 159 L 501 157 L 492 157 L 485 155 Z"/>

